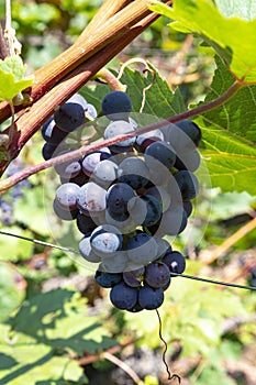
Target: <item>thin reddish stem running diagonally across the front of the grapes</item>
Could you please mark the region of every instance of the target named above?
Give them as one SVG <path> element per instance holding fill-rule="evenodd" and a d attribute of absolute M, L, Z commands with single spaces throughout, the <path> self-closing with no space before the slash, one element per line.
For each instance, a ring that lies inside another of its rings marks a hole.
<path fill-rule="evenodd" d="M 48 161 L 42 162 L 35 166 L 27 167 L 27 168 L 16 173 L 16 174 L 10 176 L 7 179 L 1 180 L 0 182 L 0 195 L 3 194 L 10 187 L 18 184 L 19 182 L 26 179 L 29 176 L 36 174 L 43 169 L 53 167 L 53 166 L 55 166 L 57 164 L 62 164 L 64 162 L 71 161 L 71 160 L 77 158 L 77 157 L 82 157 L 84 155 L 86 155 L 90 152 L 93 152 L 96 150 L 99 150 L 99 148 L 102 148 L 105 146 L 110 146 L 110 145 L 115 144 L 118 142 L 121 142 L 121 141 L 127 140 L 130 138 L 143 134 L 145 132 L 149 132 L 149 131 L 155 130 L 155 129 L 159 129 L 162 127 L 167 125 L 167 123 L 176 123 L 180 120 L 196 117 L 200 113 L 207 112 L 209 110 L 212 110 L 213 108 L 222 106 L 225 101 L 227 101 L 230 98 L 232 98 L 243 86 L 244 85 L 242 82 L 236 80 L 222 96 L 210 101 L 209 103 L 199 106 L 194 109 L 191 109 L 189 111 L 170 117 L 170 118 L 165 119 L 163 121 L 159 121 L 159 122 L 156 122 L 156 123 L 153 123 L 149 125 L 145 125 L 143 128 L 137 129 L 135 132 L 122 134 L 122 135 L 116 135 L 113 139 L 102 140 L 102 141 L 97 142 L 97 143 L 81 146 L 80 148 L 71 151 L 67 154 L 56 156 L 56 157 L 51 158 Z"/>

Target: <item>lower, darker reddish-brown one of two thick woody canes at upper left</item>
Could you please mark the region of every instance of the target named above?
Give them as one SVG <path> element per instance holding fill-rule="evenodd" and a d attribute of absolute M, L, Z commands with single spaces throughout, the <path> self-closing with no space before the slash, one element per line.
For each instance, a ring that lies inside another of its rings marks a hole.
<path fill-rule="evenodd" d="M 16 134 L 8 148 L 10 160 L 19 155 L 24 144 L 34 135 L 43 122 L 54 113 L 56 106 L 64 103 L 158 16 L 159 15 L 156 13 L 149 13 L 131 28 L 126 28 L 123 34 L 116 36 L 112 43 L 102 47 L 101 51 L 97 52 L 85 63 L 78 65 L 78 67 L 64 77 L 60 82 L 48 90 L 46 95 L 41 96 L 37 101 L 33 102 L 27 111 L 22 112 L 15 121 Z M 44 88 L 43 85 L 42 88 Z M 43 92 L 42 89 L 41 91 Z M 4 110 L 1 110 L 0 103 L 0 120 L 2 114 L 4 114 L 3 112 Z M 5 129 L 3 133 L 8 134 L 9 129 Z M 9 163 L 8 161 L 0 162 L 0 175 L 3 174 Z"/>

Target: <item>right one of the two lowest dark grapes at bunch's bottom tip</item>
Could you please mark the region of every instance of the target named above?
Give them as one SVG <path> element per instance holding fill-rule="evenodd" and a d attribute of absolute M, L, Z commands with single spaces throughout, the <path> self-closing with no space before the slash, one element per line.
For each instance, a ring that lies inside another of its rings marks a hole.
<path fill-rule="evenodd" d="M 143 309 L 154 310 L 164 302 L 164 290 L 162 287 L 153 288 L 144 285 L 138 290 L 138 304 Z"/>

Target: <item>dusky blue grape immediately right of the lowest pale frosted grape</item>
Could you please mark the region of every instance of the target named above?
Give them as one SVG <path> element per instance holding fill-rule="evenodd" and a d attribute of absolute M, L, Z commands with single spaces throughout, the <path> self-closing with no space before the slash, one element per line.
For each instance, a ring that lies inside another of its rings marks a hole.
<path fill-rule="evenodd" d="M 130 261 L 141 265 L 154 261 L 158 252 L 154 238 L 143 232 L 129 239 L 126 250 Z"/>

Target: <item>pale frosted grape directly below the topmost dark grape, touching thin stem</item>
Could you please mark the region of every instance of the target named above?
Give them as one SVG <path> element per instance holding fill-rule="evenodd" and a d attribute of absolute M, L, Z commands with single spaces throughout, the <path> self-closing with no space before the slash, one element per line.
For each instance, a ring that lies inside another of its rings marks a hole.
<path fill-rule="evenodd" d="M 124 121 L 124 120 L 116 120 L 111 122 L 104 130 L 104 139 L 112 139 L 121 134 L 127 134 L 127 133 L 133 133 L 134 128 L 131 123 Z M 135 138 L 130 138 L 124 141 L 118 142 L 114 144 L 114 146 L 121 146 L 121 147 L 127 147 L 132 146 L 133 143 L 135 142 Z M 110 150 L 112 146 L 110 146 Z"/>

